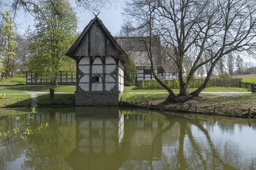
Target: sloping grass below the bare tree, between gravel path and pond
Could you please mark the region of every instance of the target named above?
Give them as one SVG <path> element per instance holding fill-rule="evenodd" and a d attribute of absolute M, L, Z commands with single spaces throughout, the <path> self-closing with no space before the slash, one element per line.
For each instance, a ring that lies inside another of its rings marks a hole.
<path fill-rule="evenodd" d="M 138 102 L 139 105 L 154 105 L 159 108 L 171 107 L 175 109 L 183 108 L 183 110 L 197 111 L 199 112 L 213 112 L 213 108 L 216 108 L 216 112 L 223 114 L 246 114 L 248 108 L 253 113 L 256 113 L 256 93 L 253 94 L 240 94 L 234 96 L 223 96 L 216 94 L 200 94 L 200 98 L 195 100 L 189 100 L 181 103 L 166 103 L 165 100 L 168 94 L 128 94 L 122 95 L 122 101 Z"/>

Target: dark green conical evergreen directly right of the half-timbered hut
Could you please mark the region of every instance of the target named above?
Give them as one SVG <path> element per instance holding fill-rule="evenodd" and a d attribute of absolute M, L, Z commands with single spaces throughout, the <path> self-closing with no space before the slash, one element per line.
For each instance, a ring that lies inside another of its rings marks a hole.
<path fill-rule="evenodd" d="M 130 63 L 124 65 L 124 83 L 125 86 L 134 85 L 137 76 L 137 68 L 133 60 L 130 58 Z"/>

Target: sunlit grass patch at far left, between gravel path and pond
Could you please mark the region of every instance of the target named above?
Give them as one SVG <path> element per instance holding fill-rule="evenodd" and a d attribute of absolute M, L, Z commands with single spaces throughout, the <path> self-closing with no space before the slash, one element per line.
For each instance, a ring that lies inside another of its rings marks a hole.
<path fill-rule="evenodd" d="M 18 101 L 18 103 L 17 103 Z M 23 107 L 31 104 L 30 94 L 10 94 L 0 99 L 0 107 Z"/>

